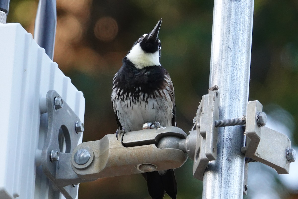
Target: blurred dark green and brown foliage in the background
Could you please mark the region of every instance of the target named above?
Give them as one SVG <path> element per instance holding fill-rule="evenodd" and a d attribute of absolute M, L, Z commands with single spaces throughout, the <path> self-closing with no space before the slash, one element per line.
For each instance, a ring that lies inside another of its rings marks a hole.
<path fill-rule="evenodd" d="M 33 33 L 37 5 L 37 0 L 11 1 L 8 22 L 19 22 Z M 57 14 L 54 61 L 86 98 L 83 141 L 98 140 L 117 129 L 110 102 L 113 75 L 134 41 L 160 18 L 161 63 L 175 87 L 177 125 L 185 132 L 191 129 L 201 96 L 208 91 L 213 1 L 57 0 Z M 105 22 L 99 22 L 102 18 Z M 259 100 L 265 111 L 268 104 L 279 105 L 291 113 L 294 124 L 297 22 L 297 0 L 255 1 L 249 100 Z M 297 143 L 295 125 L 291 130 L 292 143 Z M 192 161 L 176 169 L 176 175 L 178 198 L 201 198 L 202 182 L 192 178 Z M 82 183 L 79 198 L 149 196 L 142 176 L 131 175 Z"/>

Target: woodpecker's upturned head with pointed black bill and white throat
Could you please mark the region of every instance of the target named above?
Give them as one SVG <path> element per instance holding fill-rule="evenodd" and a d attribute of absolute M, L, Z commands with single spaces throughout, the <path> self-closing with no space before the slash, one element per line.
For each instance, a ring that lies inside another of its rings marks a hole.
<path fill-rule="evenodd" d="M 158 39 L 160 19 L 149 34 L 142 35 L 133 45 L 126 55 L 136 68 L 142 69 L 148 66 L 160 66 L 159 58 L 161 52 L 161 43 Z"/>

